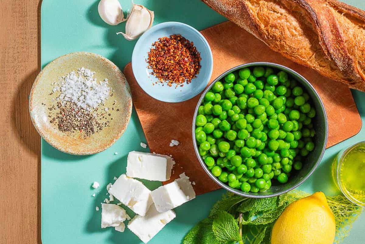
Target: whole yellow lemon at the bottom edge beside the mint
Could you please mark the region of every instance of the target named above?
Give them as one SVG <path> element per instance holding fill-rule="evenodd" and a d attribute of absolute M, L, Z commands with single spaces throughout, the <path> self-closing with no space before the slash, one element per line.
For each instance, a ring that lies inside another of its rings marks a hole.
<path fill-rule="evenodd" d="M 271 233 L 271 244 L 332 244 L 335 217 L 323 192 L 292 202 Z"/>

